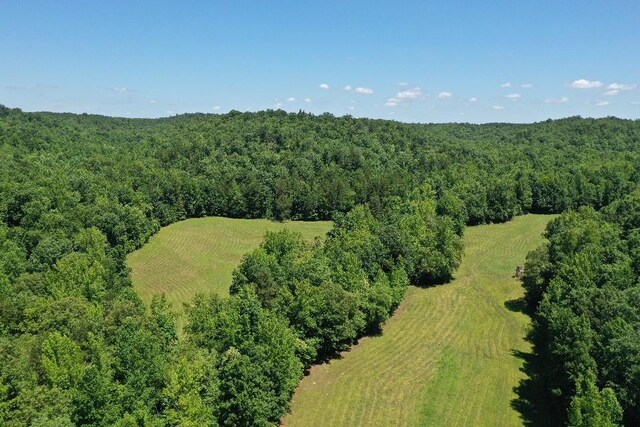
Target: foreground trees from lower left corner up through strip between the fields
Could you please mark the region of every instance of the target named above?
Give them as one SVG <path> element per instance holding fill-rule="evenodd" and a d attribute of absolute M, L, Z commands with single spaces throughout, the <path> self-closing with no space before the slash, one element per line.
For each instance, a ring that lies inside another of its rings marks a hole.
<path fill-rule="evenodd" d="M 188 305 L 183 340 L 163 297 L 145 312 L 130 287 L 117 288 L 99 230 L 80 233 L 75 251 L 42 275 L 21 273 L 23 257 L 5 239 L 0 420 L 277 424 L 304 368 L 378 331 L 410 281 L 451 277 L 461 238 L 436 205 L 425 186 L 389 200 L 379 219 L 362 205 L 338 214 L 314 243 L 268 233 L 234 273 L 231 297 Z"/>

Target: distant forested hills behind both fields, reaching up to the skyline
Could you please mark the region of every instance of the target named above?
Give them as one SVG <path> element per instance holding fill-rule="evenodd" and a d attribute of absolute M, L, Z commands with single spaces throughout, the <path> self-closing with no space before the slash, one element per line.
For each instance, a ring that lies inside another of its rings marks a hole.
<path fill-rule="evenodd" d="M 356 204 L 377 214 L 424 182 L 460 199 L 471 224 L 601 207 L 637 181 L 638 138 L 640 123 L 614 118 L 407 125 L 283 111 L 158 120 L 0 111 L 7 222 L 79 202 L 126 247 L 194 216 L 331 219 Z"/>

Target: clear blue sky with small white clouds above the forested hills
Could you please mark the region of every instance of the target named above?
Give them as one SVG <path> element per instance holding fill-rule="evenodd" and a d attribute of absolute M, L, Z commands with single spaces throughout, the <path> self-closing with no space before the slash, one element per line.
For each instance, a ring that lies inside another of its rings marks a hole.
<path fill-rule="evenodd" d="M 0 104 L 640 118 L 640 1 L 0 0 Z"/>

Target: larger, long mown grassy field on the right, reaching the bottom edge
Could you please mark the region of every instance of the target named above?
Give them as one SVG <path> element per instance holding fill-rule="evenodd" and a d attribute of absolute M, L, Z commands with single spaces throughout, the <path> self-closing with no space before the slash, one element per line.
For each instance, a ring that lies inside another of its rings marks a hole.
<path fill-rule="evenodd" d="M 530 351 L 529 318 L 509 308 L 523 293 L 512 276 L 550 219 L 468 228 L 456 279 L 409 288 L 382 336 L 312 368 L 283 424 L 522 425 L 511 407 L 524 375 L 514 352 Z"/>

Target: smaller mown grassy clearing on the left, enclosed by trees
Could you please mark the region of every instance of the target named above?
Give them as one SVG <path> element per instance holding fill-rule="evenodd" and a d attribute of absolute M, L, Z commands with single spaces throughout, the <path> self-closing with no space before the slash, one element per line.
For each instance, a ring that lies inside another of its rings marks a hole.
<path fill-rule="evenodd" d="M 227 295 L 231 274 L 242 256 L 258 247 L 267 231 L 287 228 L 306 239 L 324 236 L 331 222 L 195 218 L 164 227 L 129 255 L 133 286 L 148 304 L 164 293 L 177 310 L 197 292 Z"/>

